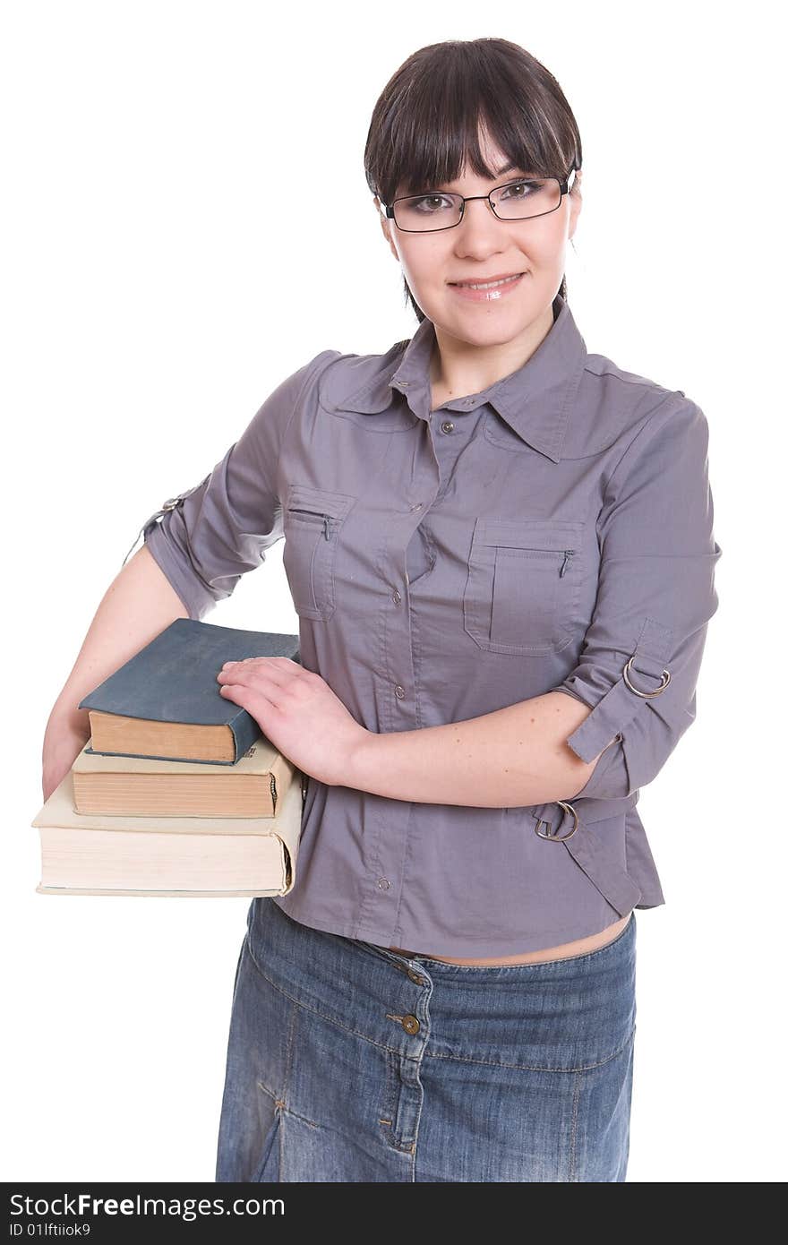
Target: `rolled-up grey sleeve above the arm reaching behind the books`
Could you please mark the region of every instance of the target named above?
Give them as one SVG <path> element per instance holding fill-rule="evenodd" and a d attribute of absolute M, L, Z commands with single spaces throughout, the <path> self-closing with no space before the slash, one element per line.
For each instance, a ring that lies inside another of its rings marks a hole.
<path fill-rule="evenodd" d="M 139 534 L 189 618 L 202 619 L 230 596 L 284 535 L 276 482 L 284 437 L 310 382 L 335 357 L 322 351 L 288 376 L 213 471 L 143 524 Z"/>

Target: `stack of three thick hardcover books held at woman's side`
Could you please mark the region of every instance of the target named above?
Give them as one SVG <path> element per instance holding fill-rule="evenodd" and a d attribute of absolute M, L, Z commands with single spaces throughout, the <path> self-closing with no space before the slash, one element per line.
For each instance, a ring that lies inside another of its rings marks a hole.
<path fill-rule="evenodd" d="M 299 637 L 176 619 L 80 701 L 91 738 L 32 820 L 45 895 L 284 895 L 306 776 L 222 696 Z"/>

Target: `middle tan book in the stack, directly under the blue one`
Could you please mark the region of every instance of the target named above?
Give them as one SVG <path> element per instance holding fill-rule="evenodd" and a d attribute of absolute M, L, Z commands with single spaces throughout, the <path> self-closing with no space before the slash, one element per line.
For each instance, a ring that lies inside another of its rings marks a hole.
<path fill-rule="evenodd" d="M 233 766 L 88 751 L 73 766 L 73 804 L 92 817 L 274 817 L 293 762 L 263 736 Z"/>

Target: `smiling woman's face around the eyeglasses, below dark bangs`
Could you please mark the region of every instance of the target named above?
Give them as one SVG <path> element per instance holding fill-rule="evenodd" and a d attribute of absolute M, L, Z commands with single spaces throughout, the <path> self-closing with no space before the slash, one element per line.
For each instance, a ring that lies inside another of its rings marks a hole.
<path fill-rule="evenodd" d="M 487 146 L 483 154 L 488 168 L 503 169 L 509 163 L 494 146 Z M 431 189 L 487 194 L 529 173 L 514 168 L 492 181 L 469 173 Z M 466 204 L 458 225 L 432 233 L 402 232 L 381 213 L 383 234 L 424 315 L 452 337 L 478 346 L 502 345 L 527 332 L 545 316 L 561 284 L 566 243 L 580 213 L 579 183 L 576 172 L 560 207 L 525 220 L 499 220 L 483 199 Z M 375 204 L 380 212 L 377 197 Z M 478 300 L 458 294 L 452 284 L 513 273 L 525 275 L 510 290 L 488 290 Z"/>

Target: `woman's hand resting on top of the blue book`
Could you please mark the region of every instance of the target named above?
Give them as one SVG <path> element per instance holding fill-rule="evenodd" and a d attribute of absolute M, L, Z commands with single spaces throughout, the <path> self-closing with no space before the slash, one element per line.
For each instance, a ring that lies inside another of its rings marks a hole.
<path fill-rule="evenodd" d="M 263 735 L 305 774 L 347 786 L 352 757 L 370 732 L 320 675 L 290 657 L 225 661 L 219 692 L 256 721 Z"/>

